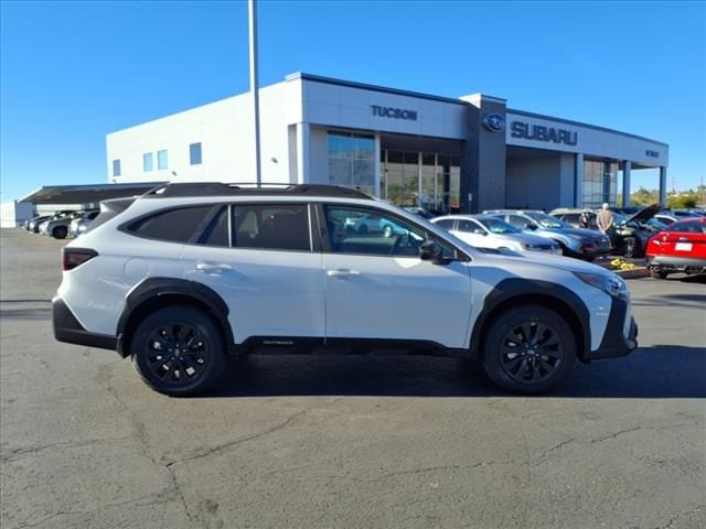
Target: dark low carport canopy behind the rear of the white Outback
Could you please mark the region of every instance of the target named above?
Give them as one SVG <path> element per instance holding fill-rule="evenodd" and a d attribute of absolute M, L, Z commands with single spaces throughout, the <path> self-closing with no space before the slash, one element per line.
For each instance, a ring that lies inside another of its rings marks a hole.
<path fill-rule="evenodd" d="M 109 198 L 141 195 L 165 183 L 47 185 L 33 191 L 19 202 L 29 204 L 94 204 Z"/>

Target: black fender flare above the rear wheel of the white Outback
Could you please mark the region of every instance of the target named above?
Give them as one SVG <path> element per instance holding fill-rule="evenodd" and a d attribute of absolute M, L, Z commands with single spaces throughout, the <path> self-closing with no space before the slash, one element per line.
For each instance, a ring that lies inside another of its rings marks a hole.
<path fill-rule="evenodd" d="M 128 325 L 135 311 L 145 303 L 159 298 L 179 295 L 189 298 L 205 306 L 221 325 L 226 347 L 232 349 L 234 344 L 233 328 L 228 322 L 228 305 L 213 289 L 203 283 L 176 278 L 149 278 L 138 284 L 127 296 L 125 309 L 116 330 L 117 350 L 124 358 L 128 356 Z"/>

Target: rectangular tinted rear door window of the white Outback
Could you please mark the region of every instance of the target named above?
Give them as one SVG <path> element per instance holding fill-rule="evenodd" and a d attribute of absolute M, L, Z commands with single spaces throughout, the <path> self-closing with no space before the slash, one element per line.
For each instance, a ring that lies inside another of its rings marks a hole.
<path fill-rule="evenodd" d="M 303 204 L 233 205 L 233 247 L 311 251 Z"/>

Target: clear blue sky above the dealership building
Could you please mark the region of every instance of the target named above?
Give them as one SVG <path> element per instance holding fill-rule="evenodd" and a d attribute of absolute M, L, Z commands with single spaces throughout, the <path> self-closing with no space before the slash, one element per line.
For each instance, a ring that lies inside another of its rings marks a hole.
<path fill-rule="evenodd" d="M 260 0 L 258 18 L 263 86 L 483 93 L 666 142 L 670 188 L 706 181 L 706 2 Z M 245 1 L 0 0 L 0 199 L 107 183 L 108 132 L 248 87 Z"/>

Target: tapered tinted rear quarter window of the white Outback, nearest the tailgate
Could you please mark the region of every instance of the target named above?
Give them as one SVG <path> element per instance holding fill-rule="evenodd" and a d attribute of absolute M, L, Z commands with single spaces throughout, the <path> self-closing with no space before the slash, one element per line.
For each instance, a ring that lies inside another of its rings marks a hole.
<path fill-rule="evenodd" d="M 195 234 L 201 233 L 212 209 L 211 205 L 168 209 L 136 220 L 127 229 L 150 239 L 188 242 Z"/>

